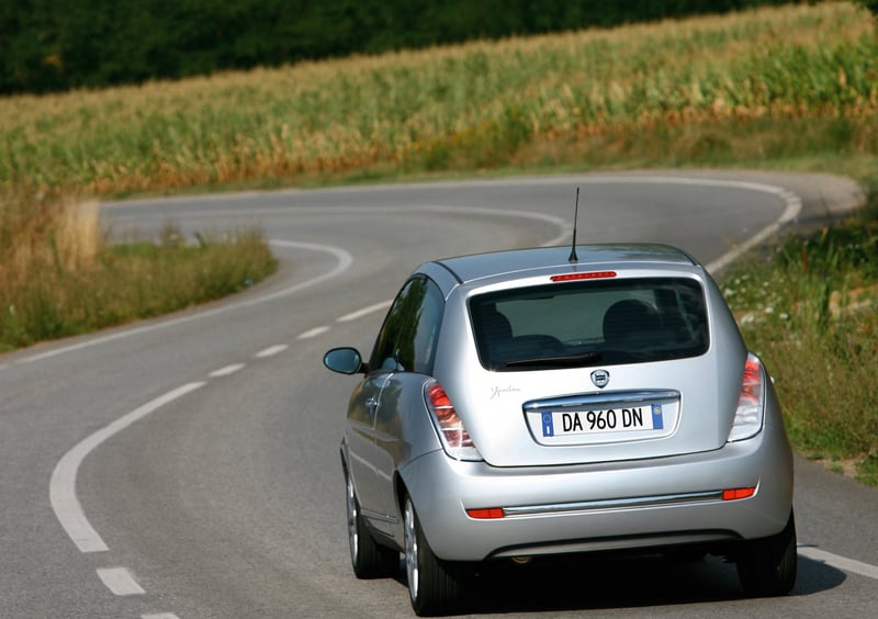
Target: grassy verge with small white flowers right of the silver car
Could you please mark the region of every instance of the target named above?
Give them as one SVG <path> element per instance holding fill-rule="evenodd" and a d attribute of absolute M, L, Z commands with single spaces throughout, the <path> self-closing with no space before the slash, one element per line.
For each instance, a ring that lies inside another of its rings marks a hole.
<path fill-rule="evenodd" d="M 721 285 L 776 379 L 796 449 L 878 486 L 878 193 L 845 222 L 739 262 Z"/>

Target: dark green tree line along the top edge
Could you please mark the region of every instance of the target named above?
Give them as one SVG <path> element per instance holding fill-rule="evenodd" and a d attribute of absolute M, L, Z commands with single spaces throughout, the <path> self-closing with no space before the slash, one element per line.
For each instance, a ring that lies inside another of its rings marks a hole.
<path fill-rule="evenodd" d="M 875 4 L 876 0 L 864 0 Z M 0 0 L 0 94 L 45 93 L 784 0 Z"/>

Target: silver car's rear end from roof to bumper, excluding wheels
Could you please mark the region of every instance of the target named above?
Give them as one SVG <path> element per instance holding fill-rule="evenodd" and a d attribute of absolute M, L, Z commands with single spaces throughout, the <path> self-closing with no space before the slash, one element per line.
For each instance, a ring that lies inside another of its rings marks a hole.
<path fill-rule="evenodd" d="M 790 450 L 716 284 L 673 248 L 579 256 L 426 267 L 455 278 L 425 385 L 443 450 L 401 475 L 434 552 L 719 550 L 777 534 Z"/>

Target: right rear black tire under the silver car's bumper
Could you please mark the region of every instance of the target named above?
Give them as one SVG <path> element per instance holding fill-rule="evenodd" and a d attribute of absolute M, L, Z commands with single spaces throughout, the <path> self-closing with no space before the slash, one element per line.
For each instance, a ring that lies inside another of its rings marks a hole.
<path fill-rule="evenodd" d="M 752 597 L 786 595 L 796 584 L 796 519 L 790 511 L 778 534 L 744 542 L 738 555 L 738 577 Z"/>

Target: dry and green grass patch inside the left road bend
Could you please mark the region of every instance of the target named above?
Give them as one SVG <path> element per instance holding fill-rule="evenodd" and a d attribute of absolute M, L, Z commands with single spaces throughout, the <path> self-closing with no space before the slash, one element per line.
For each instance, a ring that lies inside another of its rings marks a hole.
<path fill-rule="evenodd" d="M 238 292 L 275 268 L 261 234 L 112 245 L 95 204 L 0 194 L 0 351 L 167 314 Z"/>

